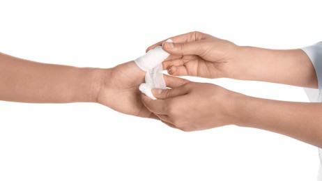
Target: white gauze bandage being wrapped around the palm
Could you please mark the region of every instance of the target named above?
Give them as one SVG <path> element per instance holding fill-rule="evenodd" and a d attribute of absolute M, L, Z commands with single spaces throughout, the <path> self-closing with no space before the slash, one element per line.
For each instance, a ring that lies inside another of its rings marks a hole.
<path fill-rule="evenodd" d="M 172 42 L 172 40 L 169 39 L 167 42 Z M 139 90 L 153 100 L 156 100 L 156 98 L 151 92 L 152 88 L 167 88 L 162 74 L 162 61 L 169 55 L 161 46 L 158 46 L 135 60 L 137 66 L 146 71 L 146 83 L 141 84 Z"/>

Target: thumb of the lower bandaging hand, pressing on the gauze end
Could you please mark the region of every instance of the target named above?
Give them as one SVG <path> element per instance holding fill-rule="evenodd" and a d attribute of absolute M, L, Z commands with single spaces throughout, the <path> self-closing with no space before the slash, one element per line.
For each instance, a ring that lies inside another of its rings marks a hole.
<path fill-rule="evenodd" d="M 189 89 L 185 86 L 185 84 L 183 84 L 183 86 L 171 89 L 153 88 L 152 93 L 158 100 L 166 100 L 169 98 L 186 95 L 187 93 L 189 93 Z"/>

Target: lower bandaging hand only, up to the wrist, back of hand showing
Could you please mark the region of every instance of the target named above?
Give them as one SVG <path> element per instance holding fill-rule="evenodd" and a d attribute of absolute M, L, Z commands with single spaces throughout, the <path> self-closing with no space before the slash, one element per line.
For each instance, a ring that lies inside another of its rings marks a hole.
<path fill-rule="evenodd" d="M 153 89 L 153 95 L 159 100 L 141 95 L 142 102 L 164 123 L 183 131 L 236 123 L 233 102 L 238 93 L 213 84 L 188 82 L 178 85 L 161 93 Z"/>

